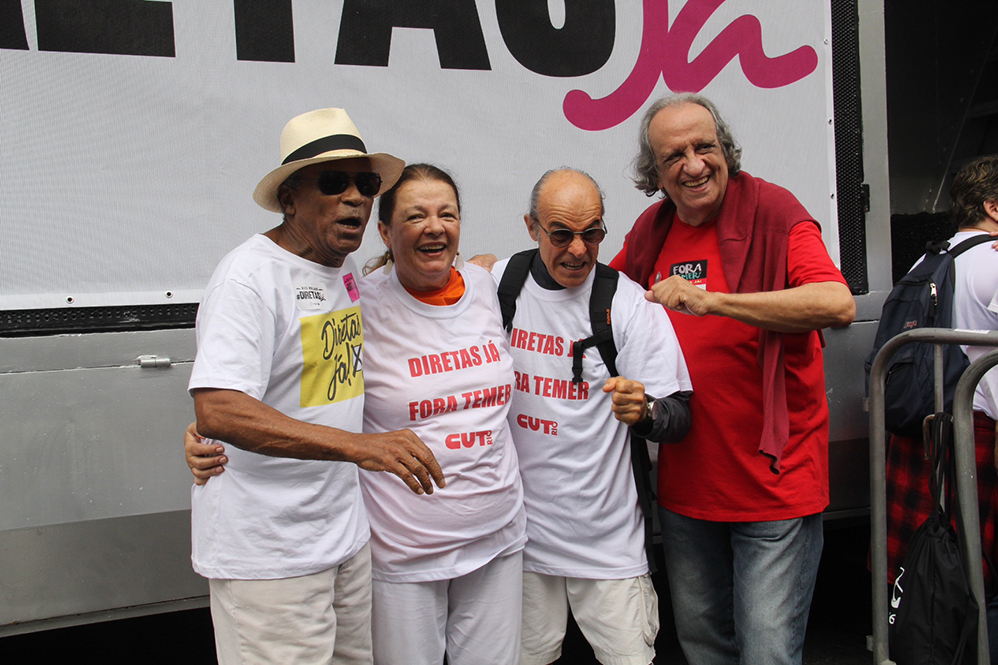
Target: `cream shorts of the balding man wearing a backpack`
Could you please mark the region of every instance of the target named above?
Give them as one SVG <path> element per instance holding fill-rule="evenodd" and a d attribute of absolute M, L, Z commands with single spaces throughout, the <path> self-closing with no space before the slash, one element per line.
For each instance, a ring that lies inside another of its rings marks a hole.
<path fill-rule="evenodd" d="M 587 580 L 524 573 L 522 665 L 561 657 L 569 607 L 603 665 L 648 665 L 655 658 L 658 595 L 649 575 Z"/>

